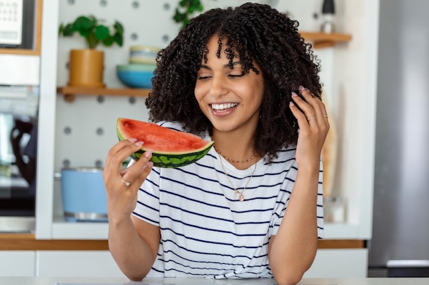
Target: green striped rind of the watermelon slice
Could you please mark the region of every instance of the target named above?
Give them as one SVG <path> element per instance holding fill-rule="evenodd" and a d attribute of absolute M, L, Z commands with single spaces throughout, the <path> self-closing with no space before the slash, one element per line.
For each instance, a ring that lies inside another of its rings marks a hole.
<path fill-rule="evenodd" d="M 118 119 L 119 122 L 120 118 Z M 117 136 L 121 141 L 123 139 L 127 139 L 123 137 L 123 135 L 119 132 L 117 128 Z M 207 141 L 206 146 L 203 148 L 199 148 L 197 150 L 193 150 L 191 152 L 157 152 L 156 150 L 152 150 L 151 161 L 154 163 L 155 167 L 162 168 L 176 168 L 183 167 L 189 165 L 191 163 L 195 163 L 202 157 L 204 157 L 212 148 L 215 141 Z M 147 149 L 141 148 L 137 152 L 131 154 L 132 159 L 138 160 L 145 153 Z"/>

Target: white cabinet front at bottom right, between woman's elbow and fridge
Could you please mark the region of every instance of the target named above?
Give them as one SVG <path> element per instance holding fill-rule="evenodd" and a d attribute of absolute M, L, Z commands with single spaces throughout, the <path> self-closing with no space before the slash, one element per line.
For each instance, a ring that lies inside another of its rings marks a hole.
<path fill-rule="evenodd" d="M 318 249 L 315 262 L 304 277 L 367 277 L 368 249 Z"/>

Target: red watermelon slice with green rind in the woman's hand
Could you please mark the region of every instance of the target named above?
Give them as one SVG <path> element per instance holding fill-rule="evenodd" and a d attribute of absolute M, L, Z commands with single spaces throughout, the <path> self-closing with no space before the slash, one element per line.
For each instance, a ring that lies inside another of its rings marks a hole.
<path fill-rule="evenodd" d="M 144 142 L 142 148 L 131 155 L 133 159 L 138 160 L 143 152 L 152 150 L 154 166 L 165 168 L 194 163 L 204 157 L 214 143 L 191 133 L 127 118 L 117 120 L 117 135 L 119 140 L 136 138 Z"/>

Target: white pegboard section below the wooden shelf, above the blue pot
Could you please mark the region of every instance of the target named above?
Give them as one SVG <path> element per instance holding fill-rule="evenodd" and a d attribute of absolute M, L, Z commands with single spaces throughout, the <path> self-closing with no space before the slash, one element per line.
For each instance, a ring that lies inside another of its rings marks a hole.
<path fill-rule="evenodd" d="M 147 121 L 145 98 L 76 96 L 75 102 L 68 103 L 59 96 L 56 171 L 64 166 L 103 167 L 108 150 L 118 141 L 116 122 L 119 117 Z"/>

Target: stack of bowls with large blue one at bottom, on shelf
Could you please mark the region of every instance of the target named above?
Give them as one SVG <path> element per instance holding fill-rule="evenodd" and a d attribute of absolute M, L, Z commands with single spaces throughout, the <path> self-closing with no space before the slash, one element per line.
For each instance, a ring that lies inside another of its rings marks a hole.
<path fill-rule="evenodd" d="M 129 64 L 117 66 L 119 80 L 128 87 L 150 89 L 158 51 L 154 46 L 131 46 Z"/>

